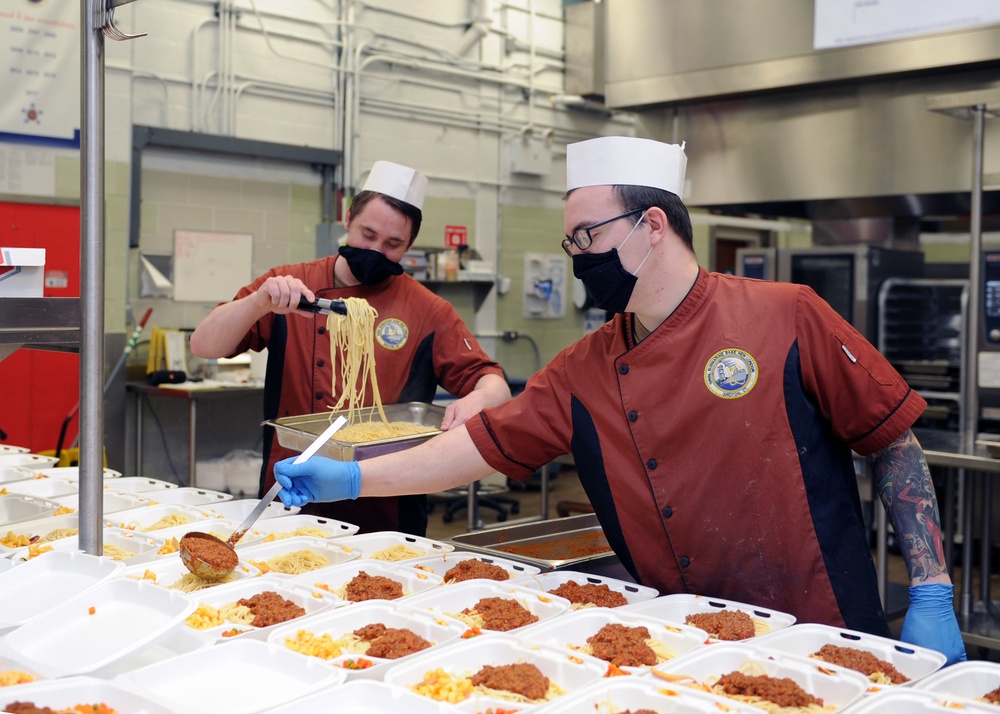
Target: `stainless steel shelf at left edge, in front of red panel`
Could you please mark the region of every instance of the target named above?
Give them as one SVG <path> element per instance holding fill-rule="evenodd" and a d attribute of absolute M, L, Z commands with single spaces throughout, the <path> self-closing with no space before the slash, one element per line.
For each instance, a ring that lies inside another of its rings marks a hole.
<path fill-rule="evenodd" d="M 0 360 L 20 348 L 77 352 L 79 298 L 0 298 Z"/>

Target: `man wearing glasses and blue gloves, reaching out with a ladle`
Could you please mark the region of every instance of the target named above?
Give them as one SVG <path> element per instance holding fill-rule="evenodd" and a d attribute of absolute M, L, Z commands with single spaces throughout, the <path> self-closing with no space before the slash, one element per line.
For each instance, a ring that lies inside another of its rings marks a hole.
<path fill-rule="evenodd" d="M 924 400 L 808 287 L 701 268 L 680 199 L 686 164 L 683 147 L 646 139 L 567 147 L 562 245 L 614 319 L 516 399 L 419 447 L 361 465 L 279 462 L 282 500 L 434 491 L 492 471 L 526 479 L 572 454 L 638 582 L 886 636 L 853 450 L 900 541 L 930 551 L 904 553 L 902 638 L 964 659 L 933 486 L 911 478 L 927 473 L 909 430 Z"/>

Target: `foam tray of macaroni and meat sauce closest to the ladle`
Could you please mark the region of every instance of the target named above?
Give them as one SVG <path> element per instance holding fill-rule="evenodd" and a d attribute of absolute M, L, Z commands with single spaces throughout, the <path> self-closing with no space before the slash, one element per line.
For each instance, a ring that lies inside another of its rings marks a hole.
<path fill-rule="evenodd" d="M 264 640 L 276 625 L 344 604 L 324 590 L 271 575 L 240 579 L 182 597 L 197 605 L 184 625 L 212 642 Z"/>

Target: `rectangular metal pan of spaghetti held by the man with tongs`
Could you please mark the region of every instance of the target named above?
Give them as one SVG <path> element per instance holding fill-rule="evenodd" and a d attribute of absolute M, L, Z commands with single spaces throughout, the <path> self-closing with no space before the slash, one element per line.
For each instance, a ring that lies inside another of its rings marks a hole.
<path fill-rule="evenodd" d="M 364 407 L 354 411 L 354 421 L 340 433 L 334 435 L 326 444 L 320 447 L 316 453 L 337 461 L 360 461 L 373 456 L 391 454 L 396 451 L 409 449 L 417 444 L 421 444 L 427 439 L 441 433 L 441 421 L 444 419 L 444 407 L 436 404 L 425 404 L 424 402 L 405 402 L 401 404 L 386 404 L 382 407 L 386 419 L 390 424 L 403 423 L 415 424 L 423 430 L 419 433 L 405 434 L 402 436 L 389 436 L 378 433 L 382 425 L 381 417 L 375 407 Z M 301 416 L 281 417 L 273 421 L 265 421 L 264 424 L 273 426 L 278 436 L 278 443 L 286 449 L 293 451 L 305 451 L 316 437 L 323 433 L 323 430 L 330 425 L 330 422 L 338 416 L 345 416 L 350 419 L 349 410 L 335 412 L 321 412 L 318 414 L 303 414 Z M 370 424 L 373 432 L 369 438 L 361 438 L 357 441 L 346 441 L 344 435 L 350 436 L 349 430 L 354 429 L 357 424 Z"/>

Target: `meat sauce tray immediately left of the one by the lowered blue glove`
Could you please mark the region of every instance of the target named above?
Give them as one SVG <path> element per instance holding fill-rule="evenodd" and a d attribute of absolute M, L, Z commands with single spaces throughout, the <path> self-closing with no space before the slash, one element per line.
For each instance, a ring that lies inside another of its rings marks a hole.
<path fill-rule="evenodd" d="M 744 640 L 795 624 L 795 617 L 788 613 L 688 593 L 623 605 L 622 610 L 700 627 L 713 640 Z"/>

